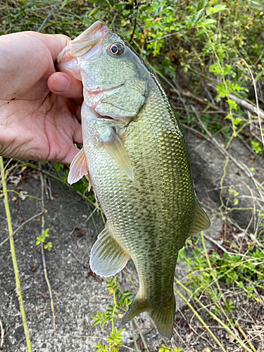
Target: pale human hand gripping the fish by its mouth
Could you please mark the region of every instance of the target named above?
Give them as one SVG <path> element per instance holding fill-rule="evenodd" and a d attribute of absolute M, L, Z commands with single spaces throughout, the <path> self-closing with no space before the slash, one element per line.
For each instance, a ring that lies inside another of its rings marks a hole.
<path fill-rule="evenodd" d="M 0 156 L 70 164 L 82 144 L 82 83 L 56 73 L 70 38 L 20 32 L 0 37 Z"/>

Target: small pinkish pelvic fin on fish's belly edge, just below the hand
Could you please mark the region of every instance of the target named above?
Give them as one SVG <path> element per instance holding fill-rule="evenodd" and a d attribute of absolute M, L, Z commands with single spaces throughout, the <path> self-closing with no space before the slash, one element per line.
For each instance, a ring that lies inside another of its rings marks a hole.
<path fill-rule="evenodd" d="M 82 148 L 77 155 L 73 158 L 70 164 L 70 172 L 68 175 L 68 183 L 73 184 L 79 181 L 84 175 L 89 176 L 88 165 L 84 149 Z M 89 190 L 92 187 L 92 181 L 89 176 Z"/>

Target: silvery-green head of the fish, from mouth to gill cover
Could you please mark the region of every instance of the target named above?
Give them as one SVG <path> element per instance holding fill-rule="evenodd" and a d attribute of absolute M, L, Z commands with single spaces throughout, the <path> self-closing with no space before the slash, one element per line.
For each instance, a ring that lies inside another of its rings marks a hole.
<path fill-rule="evenodd" d="M 84 103 L 101 117 L 130 122 L 144 105 L 149 75 L 144 61 L 101 20 L 71 41 L 56 65 L 82 80 Z"/>

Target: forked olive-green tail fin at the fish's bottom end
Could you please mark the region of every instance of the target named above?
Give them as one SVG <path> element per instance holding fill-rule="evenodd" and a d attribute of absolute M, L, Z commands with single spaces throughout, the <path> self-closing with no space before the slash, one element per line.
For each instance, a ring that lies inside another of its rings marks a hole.
<path fill-rule="evenodd" d="M 158 329 L 161 337 L 165 339 L 165 341 L 170 341 L 173 332 L 173 324 L 175 320 L 175 296 L 172 292 L 171 299 L 164 306 L 162 304 L 157 304 L 153 306 L 146 300 L 146 298 L 141 298 L 139 294 L 134 298 L 129 310 L 125 314 L 125 317 L 122 319 L 122 324 L 126 324 L 136 315 L 147 310 L 149 315 L 154 320 L 156 327 Z"/>

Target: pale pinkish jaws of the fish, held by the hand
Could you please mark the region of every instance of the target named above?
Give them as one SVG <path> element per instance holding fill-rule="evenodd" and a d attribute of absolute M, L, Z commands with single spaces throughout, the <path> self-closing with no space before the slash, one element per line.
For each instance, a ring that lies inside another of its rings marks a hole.
<path fill-rule="evenodd" d="M 103 38 L 108 31 L 106 23 L 99 20 L 71 40 L 56 58 L 57 70 L 82 80 L 78 67 L 80 62 L 98 58 L 103 53 Z"/>

